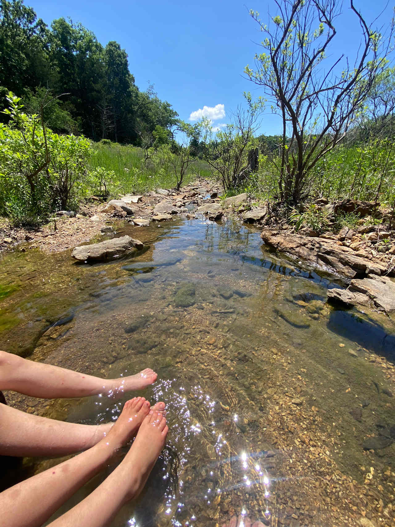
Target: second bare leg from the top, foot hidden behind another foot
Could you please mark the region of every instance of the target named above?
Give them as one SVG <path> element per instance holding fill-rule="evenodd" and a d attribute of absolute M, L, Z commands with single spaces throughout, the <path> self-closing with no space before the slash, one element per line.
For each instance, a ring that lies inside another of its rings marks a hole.
<path fill-rule="evenodd" d="M 155 410 L 164 410 L 156 403 Z M 63 456 L 91 448 L 110 432 L 114 423 L 66 423 L 21 412 L 0 404 L 0 455 Z"/>

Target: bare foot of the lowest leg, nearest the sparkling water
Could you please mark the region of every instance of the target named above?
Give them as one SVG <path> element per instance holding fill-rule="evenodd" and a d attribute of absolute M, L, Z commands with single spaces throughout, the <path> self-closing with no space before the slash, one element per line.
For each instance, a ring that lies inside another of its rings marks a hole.
<path fill-rule="evenodd" d="M 142 491 L 165 444 L 167 432 L 169 427 L 161 412 L 155 410 L 144 417 L 130 451 L 121 463 L 126 473 L 131 475 L 125 501 L 131 500 Z"/>

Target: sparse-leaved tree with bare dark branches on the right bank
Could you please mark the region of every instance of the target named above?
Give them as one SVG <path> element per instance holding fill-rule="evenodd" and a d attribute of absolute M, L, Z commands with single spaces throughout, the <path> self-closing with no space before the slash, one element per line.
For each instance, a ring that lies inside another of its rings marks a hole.
<path fill-rule="evenodd" d="M 315 164 L 344 137 L 364 101 L 386 66 L 392 51 L 390 39 L 369 26 L 351 0 L 351 10 L 362 30 L 360 54 L 347 59 L 337 73 L 343 57 L 329 61 L 327 53 L 336 35 L 340 15 L 338 0 L 275 0 L 278 11 L 268 25 L 259 13 L 250 14 L 265 38 L 263 52 L 255 55 L 255 69 L 245 73 L 263 86 L 272 110 L 282 119 L 278 186 L 281 201 L 298 203 L 308 186 Z M 349 64 L 355 62 L 354 66 Z M 287 141 L 289 129 L 290 140 Z"/>

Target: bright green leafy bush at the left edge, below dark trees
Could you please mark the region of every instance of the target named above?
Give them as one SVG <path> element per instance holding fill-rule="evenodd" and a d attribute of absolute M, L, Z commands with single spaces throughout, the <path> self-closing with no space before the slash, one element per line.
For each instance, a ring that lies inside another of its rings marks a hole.
<path fill-rule="evenodd" d="M 0 211 L 15 223 L 32 223 L 70 206 L 86 186 L 90 142 L 45 130 L 37 115 L 22 112 L 10 93 L 10 121 L 0 124 Z"/>

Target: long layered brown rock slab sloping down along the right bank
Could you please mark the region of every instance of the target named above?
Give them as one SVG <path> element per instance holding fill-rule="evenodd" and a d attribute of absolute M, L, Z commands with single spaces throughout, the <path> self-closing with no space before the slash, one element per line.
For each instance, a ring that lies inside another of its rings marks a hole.
<path fill-rule="evenodd" d="M 345 247 L 333 240 L 312 238 L 273 229 L 264 229 L 261 238 L 267 245 L 278 251 L 347 279 L 363 278 L 372 273 L 383 275 L 388 271 L 387 267 L 356 256 L 350 247 Z"/>

